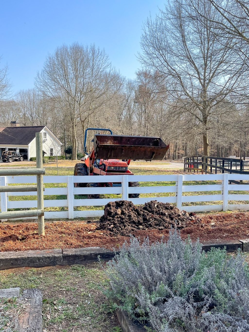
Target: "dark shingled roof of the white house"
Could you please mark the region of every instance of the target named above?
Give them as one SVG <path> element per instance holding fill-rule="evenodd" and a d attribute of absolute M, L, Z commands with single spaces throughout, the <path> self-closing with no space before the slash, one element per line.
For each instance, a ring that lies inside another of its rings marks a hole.
<path fill-rule="evenodd" d="M 6 127 L 0 130 L 0 144 L 28 145 L 45 126 Z"/>

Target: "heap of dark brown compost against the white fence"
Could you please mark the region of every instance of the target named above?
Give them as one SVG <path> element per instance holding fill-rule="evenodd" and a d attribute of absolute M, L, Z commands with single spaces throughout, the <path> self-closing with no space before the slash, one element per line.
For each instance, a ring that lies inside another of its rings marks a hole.
<path fill-rule="evenodd" d="M 136 230 L 181 229 L 193 221 L 198 222 L 194 213 L 180 211 L 168 203 L 150 201 L 144 206 L 135 206 L 132 202 L 116 201 L 105 206 L 97 229 L 108 230 L 112 236 L 127 236 Z"/>

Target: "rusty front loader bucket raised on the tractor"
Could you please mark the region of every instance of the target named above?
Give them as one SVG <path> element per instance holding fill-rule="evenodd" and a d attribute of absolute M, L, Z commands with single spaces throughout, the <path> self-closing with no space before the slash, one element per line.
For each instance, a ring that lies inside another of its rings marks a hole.
<path fill-rule="evenodd" d="M 95 156 L 98 159 L 161 160 L 169 145 L 160 137 L 94 135 Z"/>

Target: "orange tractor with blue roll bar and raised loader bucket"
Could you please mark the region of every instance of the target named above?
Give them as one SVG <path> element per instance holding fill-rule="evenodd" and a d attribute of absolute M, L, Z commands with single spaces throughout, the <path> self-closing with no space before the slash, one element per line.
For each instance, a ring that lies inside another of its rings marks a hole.
<path fill-rule="evenodd" d="M 87 152 L 86 142 L 89 130 L 97 131 L 94 135 L 91 152 Z M 98 134 L 107 131 L 110 134 Z M 86 156 L 74 168 L 74 175 L 133 175 L 128 169 L 131 160 L 161 160 L 169 145 L 159 137 L 113 135 L 112 130 L 87 128 L 84 139 Z M 121 159 L 121 160 L 120 160 Z M 75 183 L 75 187 L 121 187 L 121 183 L 108 182 Z M 138 182 L 129 182 L 129 187 L 138 187 Z M 138 198 L 139 194 L 129 194 L 129 198 Z M 99 198 L 99 195 L 88 195 L 88 198 Z"/>

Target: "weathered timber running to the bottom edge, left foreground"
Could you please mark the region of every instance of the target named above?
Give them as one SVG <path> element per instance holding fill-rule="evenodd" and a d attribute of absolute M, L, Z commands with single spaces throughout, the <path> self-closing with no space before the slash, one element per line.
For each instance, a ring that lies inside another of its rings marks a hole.
<path fill-rule="evenodd" d="M 41 290 L 28 289 L 23 291 L 24 307 L 18 317 L 20 332 L 42 332 L 42 294 Z"/>

